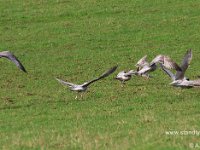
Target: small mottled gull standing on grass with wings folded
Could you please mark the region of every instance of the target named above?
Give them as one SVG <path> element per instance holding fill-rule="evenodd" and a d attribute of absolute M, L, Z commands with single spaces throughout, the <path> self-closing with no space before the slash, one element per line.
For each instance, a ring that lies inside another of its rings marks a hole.
<path fill-rule="evenodd" d="M 135 73 L 136 73 L 136 71 L 133 71 L 133 70 L 130 70 L 128 72 L 121 71 L 117 74 L 117 77 L 115 79 L 121 81 L 121 86 L 123 87 L 123 84 L 125 84 L 125 81 L 130 80 L 132 75 Z"/>

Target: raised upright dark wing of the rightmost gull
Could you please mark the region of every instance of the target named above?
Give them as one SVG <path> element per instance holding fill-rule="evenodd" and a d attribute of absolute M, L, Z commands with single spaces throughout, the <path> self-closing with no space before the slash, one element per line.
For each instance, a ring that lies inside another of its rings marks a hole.
<path fill-rule="evenodd" d="M 182 71 L 177 71 L 176 73 L 176 80 L 183 79 L 185 71 L 187 70 L 188 66 L 190 65 L 190 62 L 192 60 L 192 50 L 188 50 L 183 58 L 181 69 Z"/>

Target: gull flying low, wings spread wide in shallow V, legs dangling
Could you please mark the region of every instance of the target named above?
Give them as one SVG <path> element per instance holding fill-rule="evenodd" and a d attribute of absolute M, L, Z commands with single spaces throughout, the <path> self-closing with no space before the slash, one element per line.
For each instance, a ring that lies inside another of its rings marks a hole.
<path fill-rule="evenodd" d="M 112 74 L 117 69 L 117 67 L 118 66 L 114 66 L 114 67 L 110 68 L 108 71 L 104 72 L 100 77 L 95 78 L 91 81 L 84 82 L 83 84 L 74 84 L 74 83 L 63 81 L 63 80 L 58 79 L 58 78 L 56 78 L 56 80 L 58 82 L 60 82 L 61 84 L 68 86 L 71 91 L 85 92 L 90 84 L 109 76 L 110 74 Z M 81 95 L 81 97 L 82 97 L 82 95 Z M 77 99 L 77 98 L 78 98 L 78 96 L 75 97 L 75 99 Z"/>

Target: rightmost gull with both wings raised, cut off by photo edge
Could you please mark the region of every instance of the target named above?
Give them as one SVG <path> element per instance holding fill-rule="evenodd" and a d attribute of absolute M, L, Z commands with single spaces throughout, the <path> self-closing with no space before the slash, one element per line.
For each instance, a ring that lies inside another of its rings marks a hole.
<path fill-rule="evenodd" d="M 190 81 L 189 78 L 185 77 L 185 72 L 190 65 L 192 60 L 192 50 L 188 50 L 183 58 L 181 64 L 181 70 L 177 71 L 176 74 L 173 74 L 170 70 L 166 69 L 163 65 L 161 65 L 162 70 L 169 75 L 172 79 L 172 83 L 170 85 L 175 87 L 182 87 L 182 88 L 191 88 L 191 87 L 199 87 L 200 80 L 192 80 Z"/>

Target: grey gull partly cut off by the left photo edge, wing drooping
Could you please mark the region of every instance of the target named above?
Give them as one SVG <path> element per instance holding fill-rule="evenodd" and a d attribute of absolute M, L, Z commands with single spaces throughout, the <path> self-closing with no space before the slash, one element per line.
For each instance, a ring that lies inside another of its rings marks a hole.
<path fill-rule="evenodd" d="M 17 59 L 17 57 L 12 54 L 11 52 L 9 51 L 3 51 L 3 52 L 0 52 L 0 58 L 7 58 L 9 59 L 10 61 L 12 61 L 20 70 L 26 72 L 26 69 L 24 68 L 24 66 L 21 64 L 21 62 Z"/>

